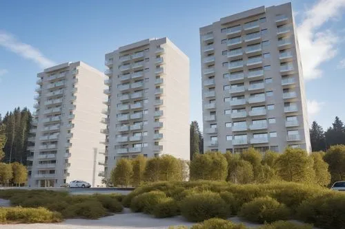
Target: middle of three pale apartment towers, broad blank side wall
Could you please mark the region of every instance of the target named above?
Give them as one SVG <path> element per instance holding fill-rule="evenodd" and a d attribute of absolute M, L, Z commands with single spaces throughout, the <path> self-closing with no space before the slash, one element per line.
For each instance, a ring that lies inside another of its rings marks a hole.
<path fill-rule="evenodd" d="M 146 39 L 106 54 L 105 174 L 121 157 L 189 159 L 189 59 L 169 39 Z"/>

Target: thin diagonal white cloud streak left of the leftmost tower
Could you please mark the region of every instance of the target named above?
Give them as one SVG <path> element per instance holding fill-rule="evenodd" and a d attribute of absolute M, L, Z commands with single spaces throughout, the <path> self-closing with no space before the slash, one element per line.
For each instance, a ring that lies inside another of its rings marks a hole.
<path fill-rule="evenodd" d="M 53 61 L 37 50 L 37 48 L 32 47 L 26 43 L 22 43 L 21 41 L 17 40 L 12 34 L 0 30 L 0 46 L 6 47 L 6 49 L 19 54 L 23 58 L 27 58 L 29 60 L 34 61 L 40 67 L 46 68 L 55 65 Z"/>

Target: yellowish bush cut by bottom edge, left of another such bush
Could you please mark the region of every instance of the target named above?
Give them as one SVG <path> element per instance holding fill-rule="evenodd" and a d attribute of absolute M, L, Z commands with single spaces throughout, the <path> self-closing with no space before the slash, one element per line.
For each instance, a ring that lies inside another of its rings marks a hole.
<path fill-rule="evenodd" d="M 202 223 L 198 223 L 190 229 L 246 229 L 243 224 L 235 224 L 225 219 L 208 219 Z"/>

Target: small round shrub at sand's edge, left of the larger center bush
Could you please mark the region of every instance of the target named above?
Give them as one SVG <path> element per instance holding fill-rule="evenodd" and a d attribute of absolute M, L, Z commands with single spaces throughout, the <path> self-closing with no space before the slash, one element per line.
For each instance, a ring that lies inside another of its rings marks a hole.
<path fill-rule="evenodd" d="M 175 217 L 179 215 L 177 201 L 171 197 L 159 199 L 159 203 L 153 208 L 152 214 L 157 218 Z"/>

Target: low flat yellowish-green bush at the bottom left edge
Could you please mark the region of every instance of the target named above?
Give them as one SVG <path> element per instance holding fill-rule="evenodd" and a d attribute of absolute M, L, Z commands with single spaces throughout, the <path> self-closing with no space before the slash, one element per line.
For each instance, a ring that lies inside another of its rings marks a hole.
<path fill-rule="evenodd" d="M 3 223 L 56 223 L 61 214 L 46 208 L 0 208 L 0 222 Z"/>

